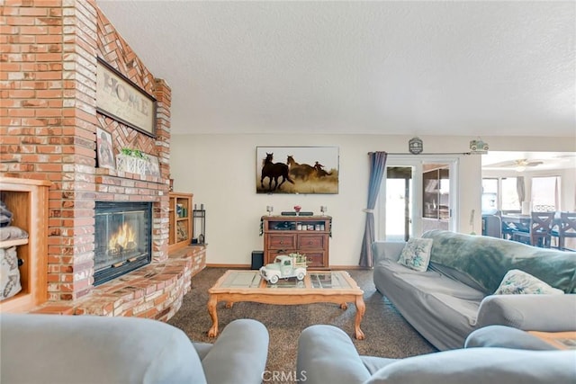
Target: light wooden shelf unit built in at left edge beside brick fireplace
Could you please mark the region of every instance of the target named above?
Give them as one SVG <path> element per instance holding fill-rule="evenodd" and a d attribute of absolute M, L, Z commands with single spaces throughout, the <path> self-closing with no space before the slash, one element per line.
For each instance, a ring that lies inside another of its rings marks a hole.
<path fill-rule="evenodd" d="M 12 226 L 28 232 L 27 239 L 0 241 L 0 247 L 17 246 L 23 260 L 20 269 L 22 290 L 0 301 L 0 312 L 26 312 L 48 299 L 48 192 L 51 183 L 43 180 L 0 176 L 0 199 L 14 217 Z"/>

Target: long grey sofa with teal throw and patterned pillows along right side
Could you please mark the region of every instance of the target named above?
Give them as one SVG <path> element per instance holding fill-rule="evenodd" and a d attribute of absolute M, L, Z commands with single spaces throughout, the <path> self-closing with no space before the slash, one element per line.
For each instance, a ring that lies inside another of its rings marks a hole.
<path fill-rule="evenodd" d="M 405 243 L 374 242 L 374 284 L 437 349 L 462 348 L 482 326 L 576 330 L 575 253 L 446 230 L 422 238 L 432 244 L 425 271 L 399 263 Z M 494 294 L 512 270 L 564 294 Z"/>

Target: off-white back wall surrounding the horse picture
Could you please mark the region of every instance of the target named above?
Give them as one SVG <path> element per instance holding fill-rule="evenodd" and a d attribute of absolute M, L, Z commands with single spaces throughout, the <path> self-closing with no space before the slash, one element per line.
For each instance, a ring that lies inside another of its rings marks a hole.
<path fill-rule="evenodd" d="M 408 153 L 408 140 L 412 136 L 174 135 L 171 138 L 171 178 L 175 192 L 192 192 L 194 203 L 204 204 L 207 263 L 249 264 L 252 251 L 263 249 L 263 237 L 259 237 L 258 232 L 260 217 L 266 215 L 266 205 L 273 205 L 275 213 L 279 214 L 299 204 L 302 210 L 316 213 L 320 213 L 320 205 L 329 207 L 329 215 L 333 218 L 330 265 L 357 265 L 364 234 L 365 213 L 362 210 L 367 199 L 367 153 Z M 469 141 L 474 139 L 420 138 L 424 140 L 426 153 L 467 152 Z M 557 138 L 482 139 L 494 150 L 573 150 L 570 145 L 562 145 L 566 141 L 570 144 L 570 140 Z M 339 193 L 257 194 L 257 146 L 339 147 Z M 481 211 L 481 165 L 481 156 L 460 156 L 458 231 L 464 233 L 472 230 L 471 211 Z M 480 215 L 476 215 L 474 228 L 481 228 L 480 220 Z"/>

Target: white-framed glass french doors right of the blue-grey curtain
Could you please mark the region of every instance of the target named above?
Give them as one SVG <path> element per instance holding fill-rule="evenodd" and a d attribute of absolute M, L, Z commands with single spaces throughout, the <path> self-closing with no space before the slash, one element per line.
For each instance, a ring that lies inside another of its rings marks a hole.
<path fill-rule="evenodd" d="M 406 241 L 430 229 L 455 230 L 457 158 L 388 156 L 375 213 L 376 237 Z"/>

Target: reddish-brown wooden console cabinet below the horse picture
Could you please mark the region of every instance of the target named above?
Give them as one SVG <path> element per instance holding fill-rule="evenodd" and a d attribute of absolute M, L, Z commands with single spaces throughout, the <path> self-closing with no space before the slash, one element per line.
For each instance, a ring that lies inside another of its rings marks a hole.
<path fill-rule="evenodd" d="M 273 263 L 276 255 L 306 255 L 308 266 L 329 268 L 329 216 L 263 216 L 264 263 Z"/>

